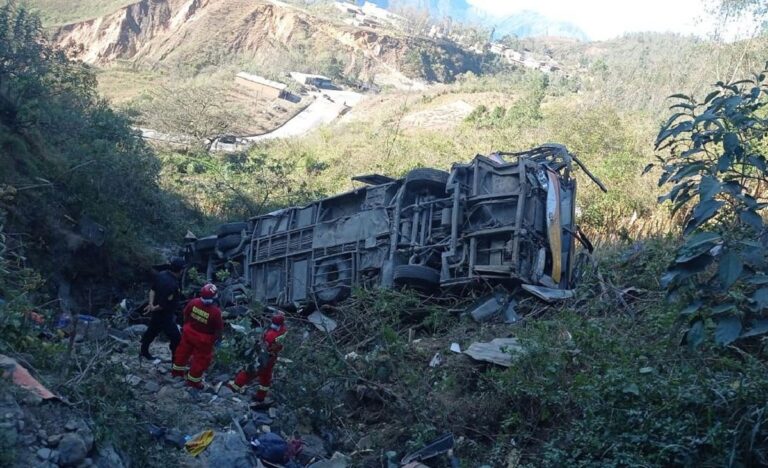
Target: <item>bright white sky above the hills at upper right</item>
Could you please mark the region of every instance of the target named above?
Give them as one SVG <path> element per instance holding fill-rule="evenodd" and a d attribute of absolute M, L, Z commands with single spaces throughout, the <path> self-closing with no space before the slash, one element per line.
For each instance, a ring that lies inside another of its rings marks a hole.
<path fill-rule="evenodd" d="M 706 36 L 714 30 L 714 19 L 704 16 L 711 9 L 706 0 L 467 0 L 475 8 L 495 16 L 520 10 L 537 11 L 551 20 L 578 26 L 592 40 L 610 39 L 626 32 L 677 32 Z M 733 25 L 727 36 L 745 34 L 754 26 Z M 751 32 L 751 30 L 750 30 Z"/>

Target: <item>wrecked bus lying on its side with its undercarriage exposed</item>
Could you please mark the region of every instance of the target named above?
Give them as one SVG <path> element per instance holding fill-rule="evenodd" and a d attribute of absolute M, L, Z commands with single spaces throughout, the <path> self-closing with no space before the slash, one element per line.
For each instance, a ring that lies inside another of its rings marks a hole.
<path fill-rule="evenodd" d="M 208 279 L 228 268 L 267 304 L 335 302 L 355 286 L 565 290 L 575 241 L 584 241 L 573 161 L 564 146 L 548 144 L 478 155 L 450 172 L 355 177 L 366 185 L 223 225 L 191 240 L 186 255 Z"/>

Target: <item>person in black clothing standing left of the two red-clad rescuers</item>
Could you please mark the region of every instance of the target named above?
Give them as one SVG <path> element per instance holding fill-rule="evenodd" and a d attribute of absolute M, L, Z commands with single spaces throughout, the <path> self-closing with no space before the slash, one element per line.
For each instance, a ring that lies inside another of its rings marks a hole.
<path fill-rule="evenodd" d="M 141 337 L 141 351 L 139 357 L 154 359 L 149 353 L 149 345 L 160 332 L 163 332 L 170 341 L 171 359 L 176 352 L 176 346 L 181 341 L 181 333 L 176 326 L 176 312 L 179 308 L 181 292 L 179 291 L 179 277 L 184 270 L 184 260 L 174 258 L 170 268 L 156 274 L 149 290 L 149 304 L 146 311 L 152 314 L 147 331 Z"/>

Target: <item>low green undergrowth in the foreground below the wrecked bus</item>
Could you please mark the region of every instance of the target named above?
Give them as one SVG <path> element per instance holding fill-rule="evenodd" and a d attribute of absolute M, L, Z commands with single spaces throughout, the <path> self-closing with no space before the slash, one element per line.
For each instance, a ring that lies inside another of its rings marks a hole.
<path fill-rule="evenodd" d="M 658 283 L 673 250 L 659 238 L 603 252 L 574 303 L 522 300 L 518 310 L 535 318 L 513 326 L 449 312 L 466 299 L 436 307 L 358 292 L 333 311 L 333 334 L 289 335 L 293 364 L 277 389 L 312 409 L 302 424 L 343 431 L 350 450 L 368 435 L 402 456 L 450 431 L 463 438 L 462 466 L 764 464 L 764 350 L 679 346 L 677 311 Z M 448 351 L 510 334 L 526 353 L 508 369 Z M 429 367 L 437 352 L 442 364 Z M 375 458 L 360 456 L 360 466 Z"/>

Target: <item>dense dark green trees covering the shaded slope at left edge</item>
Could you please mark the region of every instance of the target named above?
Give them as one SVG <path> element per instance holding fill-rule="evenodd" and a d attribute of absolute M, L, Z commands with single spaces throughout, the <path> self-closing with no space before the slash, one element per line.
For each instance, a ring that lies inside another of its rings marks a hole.
<path fill-rule="evenodd" d="M 50 273 L 118 273 L 146 251 L 148 232 L 172 232 L 168 213 L 183 208 L 160 192 L 158 159 L 98 96 L 93 70 L 46 45 L 36 16 L 6 4 L 0 37 L 0 209 L 8 226 L 34 232 L 23 241 Z M 77 251 L 67 239 L 85 218 L 108 226 L 105 246 L 92 257 L 50 258 L 63 245 Z"/>

